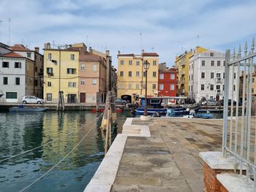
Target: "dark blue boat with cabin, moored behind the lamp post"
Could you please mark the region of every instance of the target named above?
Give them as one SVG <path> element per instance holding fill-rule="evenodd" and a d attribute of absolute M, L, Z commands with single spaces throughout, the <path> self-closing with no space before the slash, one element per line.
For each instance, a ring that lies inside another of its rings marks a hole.
<path fill-rule="evenodd" d="M 141 107 L 137 107 L 133 112 L 135 115 L 143 115 L 145 110 L 145 98 L 141 99 Z M 159 115 L 166 115 L 166 108 L 162 107 L 162 99 L 161 97 L 150 97 L 147 98 L 147 113 L 148 115 L 152 115 L 154 112 L 159 113 Z"/>

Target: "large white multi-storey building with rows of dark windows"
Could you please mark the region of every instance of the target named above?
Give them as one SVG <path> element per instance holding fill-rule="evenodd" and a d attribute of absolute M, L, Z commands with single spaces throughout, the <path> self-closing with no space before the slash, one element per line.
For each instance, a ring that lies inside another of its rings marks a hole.
<path fill-rule="evenodd" d="M 234 78 L 237 78 L 236 74 Z M 218 101 L 224 98 L 224 89 L 225 53 L 207 50 L 204 53 L 195 53 L 189 58 L 189 98 L 200 101 L 205 97 Z M 233 89 L 236 90 L 236 85 Z M 234 100 L 237 101 L 236 96 Z"/>

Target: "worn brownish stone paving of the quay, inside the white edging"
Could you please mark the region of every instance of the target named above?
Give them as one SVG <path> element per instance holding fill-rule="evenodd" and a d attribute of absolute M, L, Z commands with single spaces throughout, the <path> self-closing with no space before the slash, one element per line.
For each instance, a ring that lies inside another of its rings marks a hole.
<path fill-rule="evenodd" d="M 151 137 L 128 137 L 111 191 L 203 191 L 198 153 L 222 150 L 222 120 L 141 121 Z"/>

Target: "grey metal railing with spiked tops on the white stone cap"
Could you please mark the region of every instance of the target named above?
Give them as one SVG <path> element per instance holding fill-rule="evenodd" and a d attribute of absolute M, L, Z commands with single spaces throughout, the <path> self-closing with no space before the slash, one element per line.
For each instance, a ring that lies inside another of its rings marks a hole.
<path fill-rule="evenodd" d="M 226 51 L 222 153 L 224 157 L 233 156 L 234 172 L 243 174 L 243 169 L 246 167 L 244 173 L 247 179 L 254 180 L 256 188 L 256 118 L 251 118 L 252 75 L 256 66 L 253 59 L 255 57 L 254 39 L 252 39 L 250 50 L 248 50 L 247 43 L 245 44 L 243 56 L 241 46 L 237 54 L 234 48 L 232 57 L 230 57 L 230 50 Z M 234 72 L 238 75 L 242 74 L 242 80 L 239 77 L 234 79 Z M 238 107 L 240 91 L 242 107 Z M 235 98 L 236 102 L 234 102 Z M 231 99 L 230 118 L 227 117 L 228 99 Z"/>

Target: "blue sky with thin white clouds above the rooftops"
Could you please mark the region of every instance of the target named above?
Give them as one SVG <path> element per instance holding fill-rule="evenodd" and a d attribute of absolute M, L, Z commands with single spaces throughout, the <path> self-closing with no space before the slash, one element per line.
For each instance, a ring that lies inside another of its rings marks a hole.
<path fill-rule="evenodd" d="M 8 18 L 12 45 L 42 53 L 45 42 L 85 42 L 110 50 L 114 64 L 118 50 L 140 54 L 141 45 L 170 66 L 197 45 L 224 52 L 256 37 L 255 0 L 0 0 L 0 41 L 7 45 Z"/>

